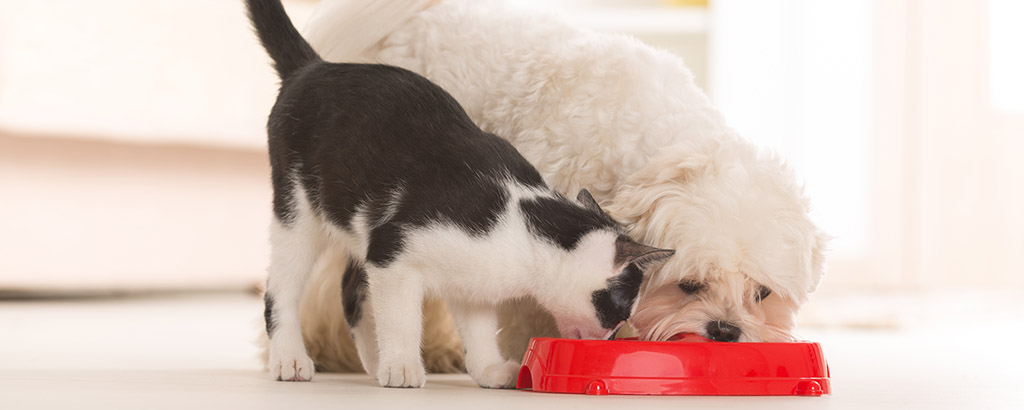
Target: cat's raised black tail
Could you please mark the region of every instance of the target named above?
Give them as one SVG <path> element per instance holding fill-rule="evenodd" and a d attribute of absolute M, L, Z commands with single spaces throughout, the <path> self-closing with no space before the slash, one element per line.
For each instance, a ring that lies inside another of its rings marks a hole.
<path fill-rule="evenodd" d="M 321 61 L 319 55 L 295 30 L 281 0 L 246 0 L 249 19 L 253 22 L 259 41 L 273 59 L 273 68 L 282 79 L 296 70 Z"/>

